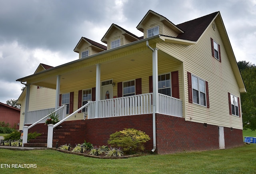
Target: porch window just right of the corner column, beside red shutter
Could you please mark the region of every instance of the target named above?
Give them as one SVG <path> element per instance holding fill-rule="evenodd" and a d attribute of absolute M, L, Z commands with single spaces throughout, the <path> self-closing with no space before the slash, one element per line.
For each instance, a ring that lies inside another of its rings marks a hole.
<path fill-rule="evenodd" d="M 158 75 L 158 93 L 171 96 L 170 74 Z"/>

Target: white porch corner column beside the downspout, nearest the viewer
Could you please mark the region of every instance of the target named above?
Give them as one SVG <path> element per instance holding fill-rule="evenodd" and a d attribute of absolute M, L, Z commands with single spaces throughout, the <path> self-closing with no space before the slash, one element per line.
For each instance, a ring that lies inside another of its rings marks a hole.
<path fill-rule="evenodd" d="M 158 53 L 157 48 L 154 48 L 152 59 L 153 59 L 153 109 L 154 113 L 158 113 Z"/>

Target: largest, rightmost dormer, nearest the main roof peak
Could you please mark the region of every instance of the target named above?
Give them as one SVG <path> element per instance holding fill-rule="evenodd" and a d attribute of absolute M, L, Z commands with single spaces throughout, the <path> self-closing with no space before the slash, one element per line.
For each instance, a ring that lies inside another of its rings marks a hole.
<path fill-rule="evenodd" d="M 144 33 L 144 38 L 149 38 L 158 34 L 176 38 L 179 34 L 184 33 L 167 18 L 152 10 L 148 11 L 136 28 Z"/>

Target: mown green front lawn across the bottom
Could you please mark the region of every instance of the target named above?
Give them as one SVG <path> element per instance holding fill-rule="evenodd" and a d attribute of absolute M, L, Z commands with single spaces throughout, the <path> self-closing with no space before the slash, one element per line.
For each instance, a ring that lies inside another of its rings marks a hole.
<path fill-rule="evenodd" d="M 0 149 L 0 173 L 255 173 L 256 144 L 226 150 L 98 159 L 55 150 Z M 3 164 L 36 164 L 36 168 L 2 168 Z"/>

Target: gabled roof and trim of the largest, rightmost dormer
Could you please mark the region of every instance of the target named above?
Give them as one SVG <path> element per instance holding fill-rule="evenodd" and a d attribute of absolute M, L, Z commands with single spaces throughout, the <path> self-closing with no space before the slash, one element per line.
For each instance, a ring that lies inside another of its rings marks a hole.
<path fill-rule="evenodd" d="M 136 27 L 141 32 L 144 32 L 144 23 L 148 20 L 148 18 L 151 18 L 152 15 L 158 16 L 160 18 L 160 21 L 166 24 L 168 27 L 170 27 L 172 30 L 177 32 L 178 34 L 184 33 L 180 28 L 178 28 L 175 24 L 173 24 L 170 20 L 168 20 L 166 17 L 152 11 L 148 10 L 147 14 L 142 18 L 138 26 Z"/>

